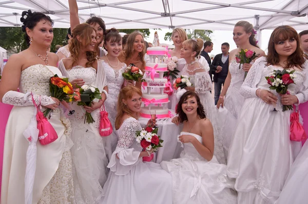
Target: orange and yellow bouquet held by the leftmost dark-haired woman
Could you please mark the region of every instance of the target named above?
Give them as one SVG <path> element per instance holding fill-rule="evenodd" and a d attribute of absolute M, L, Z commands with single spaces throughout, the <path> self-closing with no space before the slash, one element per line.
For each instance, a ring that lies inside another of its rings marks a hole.
<path fill-rule="evenodd" d="M 51 97 L 57 98 L 59 101 L 72 101 L 74 91 L 72 84 L 68 82 L 68 78 L 60 78 L 57 75 L 54 75 L 50 78 L 49 85 Z M 50 111 L 51 109 L 47 108 L 44 111 L 44 117 L 47 117 Z"/>

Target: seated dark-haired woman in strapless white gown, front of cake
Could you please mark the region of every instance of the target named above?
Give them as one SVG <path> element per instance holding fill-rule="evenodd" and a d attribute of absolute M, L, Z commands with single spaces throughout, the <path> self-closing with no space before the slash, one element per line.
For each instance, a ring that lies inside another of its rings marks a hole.
<path fill-rule="evenodd" d="M 206 119 L 199 96 L 187 91 L 177 112 L 184 126 L 179 141 L 184 144 L 180 158 L 161 166 L 172 176 L 173 203 L 236 203 L 234 179 L 226 176 L 226 165 L 219 164 L 214 152 L 214 131 Z"/>

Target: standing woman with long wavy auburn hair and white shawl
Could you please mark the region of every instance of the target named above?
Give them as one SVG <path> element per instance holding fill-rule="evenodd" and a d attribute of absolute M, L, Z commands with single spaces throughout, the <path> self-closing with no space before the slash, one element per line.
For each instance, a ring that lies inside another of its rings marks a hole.
<path fill-rule="evenodd" d="M 69 78 L 73 87 L 76 84 L 93 84 L 102 92 L 102 100 L 95 99 L 90 106 L 70 104 L 74 114 L 69 116 L 72 124 L 71 148 L 74 164 L 73 178 L 77 203 L 98 203 L 104 195 L 102 186 L 107 179 L 105 154 L 106 137 L 101 137 L 100 107 L 107 97 L 107 81 L 103 61 L 94 51 L 96 32 L 88 24 L 80 24 L 73 30 L 74 36 L 69 42 L 70 58 L 59 62 L 62 74 Z M 88 39 L 91 39 L 89 41 Z M 104 90 L 105 89 L 105 90 Z M 85 122 L 85 113 L 91 112 L 93 123 Z M 111 150 L 110 150 L 111 151 Z"/>

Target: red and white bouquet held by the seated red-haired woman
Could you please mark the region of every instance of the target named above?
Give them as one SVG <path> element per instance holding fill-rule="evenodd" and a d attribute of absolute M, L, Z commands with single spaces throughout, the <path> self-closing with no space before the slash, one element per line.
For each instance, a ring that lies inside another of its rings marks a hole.
<path fill-rule="evenodd" d="M 155 152 L 162 147 L 163 140 L 157 135 L 158 128 L 146 127 L 136 131 L 136 141 L 145 150 L 153 149 Z"/>

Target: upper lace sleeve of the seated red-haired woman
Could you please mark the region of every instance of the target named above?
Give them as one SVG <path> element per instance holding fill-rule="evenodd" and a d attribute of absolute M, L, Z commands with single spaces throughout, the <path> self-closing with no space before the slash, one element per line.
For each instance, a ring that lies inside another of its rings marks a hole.
<path fill-rule="evenodd" d="M 120 139 L 119 139 L 119 142 L 117 144 L 117 148 L 115 149 L 115 151 L 119 151 L 122 149 L 128 149 L 133 143 L 133 141 L 135 140 L 136 131 L 140 129 L 141 129 L 141 126 L 136 119 L 131 120 L 130 122 L 127 122 L 121 131 Z"/>

